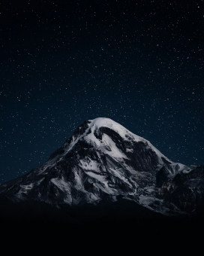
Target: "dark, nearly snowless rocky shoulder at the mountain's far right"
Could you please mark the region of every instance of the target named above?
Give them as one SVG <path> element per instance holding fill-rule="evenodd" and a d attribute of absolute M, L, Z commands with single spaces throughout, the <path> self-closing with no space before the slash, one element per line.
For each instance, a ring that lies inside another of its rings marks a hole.
<path fill-rule="evenodd" d="M 204 198 L 204 168 L 187 167 L 179 171 L 179 165 L 163 166 L 157 172 L 160 196 L 172 202 L 184 212 L 199 211 Z"/>

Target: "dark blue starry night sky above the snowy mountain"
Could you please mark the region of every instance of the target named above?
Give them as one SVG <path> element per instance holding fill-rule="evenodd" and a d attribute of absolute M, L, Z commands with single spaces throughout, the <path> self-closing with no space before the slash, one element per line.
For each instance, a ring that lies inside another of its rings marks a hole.
<path fill-rule="evenodd" d="M 0 3 L 0 182 L 109 117 L 204 164 L 203 1 Z"/>

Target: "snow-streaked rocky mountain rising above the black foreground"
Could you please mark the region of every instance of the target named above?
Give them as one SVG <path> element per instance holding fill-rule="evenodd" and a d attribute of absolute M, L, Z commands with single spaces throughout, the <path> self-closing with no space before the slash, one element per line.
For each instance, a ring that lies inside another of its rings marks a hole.
<path fill-rule="evenodd" d="M 173 163 L 150 142 L 109 118 L 86 120 L 49 160 L 0 186 L 17 203 L 97 205 L 121 198 L 163 215 L 203 205 L 203 168 Z"/>

